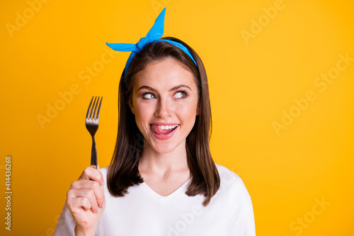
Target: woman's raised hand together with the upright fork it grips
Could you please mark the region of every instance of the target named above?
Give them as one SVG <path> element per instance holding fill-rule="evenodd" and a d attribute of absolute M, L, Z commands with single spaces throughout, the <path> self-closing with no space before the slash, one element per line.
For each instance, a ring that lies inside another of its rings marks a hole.
<path fill-rule="evenodd" d="M 100 97 L 98 99 L 96 97 L 94 101 L 93 98 L 91 99 L 85 120 L 86 128 L 92 137 L 91 167 L 93 168 L 86 167 L 79 179 L 74 181 L 67 191 L 66 206 L 76 223 L 75 235 L 95 235 L 98 220 L 105 210 L 105 183 L 98 169 L 94 137 L 98 130 L 101 103 Z"/>

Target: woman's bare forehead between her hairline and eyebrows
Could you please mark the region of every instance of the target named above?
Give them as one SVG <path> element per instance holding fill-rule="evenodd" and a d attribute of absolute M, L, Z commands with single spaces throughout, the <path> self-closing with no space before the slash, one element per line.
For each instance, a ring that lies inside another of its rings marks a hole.
<path fill-rule="evenodd" d="M 196 89 L 193 74 L 173 58 L 154 61 L 135 74 L 134 90 L 140 86 L 151 86 L 154 89 L 171 89 L 184 84 Z"/>

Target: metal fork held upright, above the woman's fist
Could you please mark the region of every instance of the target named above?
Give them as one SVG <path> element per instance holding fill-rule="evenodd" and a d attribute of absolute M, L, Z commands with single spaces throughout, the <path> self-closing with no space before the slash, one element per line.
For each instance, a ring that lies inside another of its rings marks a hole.
<path fill-rule="evenodd" d="M 93 101 L 93 97 L 92 97 L 89 108 L 87 109 L 86 119 L 85 119 L 86 128 L 87 130 L 89 130 L 89 133 L 92 137 L 91 167 L 95 169 L 97 169 L 97 150 L 96 150 L 95 134 L 98 130 L 98 119 L 100 117 L 102 99 L 103 97 L 101 97 L 101 101 L 100 101 L 100 97 L 98 96 L 98 99 L 97 97 L 95 97 L 95 100 Z M 100 103 L 100 105 L 98 106 L 97 109 L 98 102 Z"/>

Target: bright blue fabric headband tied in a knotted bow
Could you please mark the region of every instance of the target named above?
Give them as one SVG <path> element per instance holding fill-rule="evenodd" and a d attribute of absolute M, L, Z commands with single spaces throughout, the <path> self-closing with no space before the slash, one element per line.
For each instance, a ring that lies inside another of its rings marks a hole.
<path fill-rule="evenodd" d="M 154 26 L 149 30 L 149 33 L 147 33 L 147 36 L 144 38 L 140 38 L 139 42 L 137 44 L 132 44 L 132 43 L 106 43 L 108 47 L 112 48 L 115 51 L 121 51 L 121 52 L 130 52 L 127 64 L 125 64 L 125 74 L 127 74 L 128 69 L 130 67 L 130 64 L 132 63 L 132 60 L 135 57 L 135 53 L 140 52 L 145 45 L 148 43 L 152 42 L 157 42 L 157 41 L 166 41 L 167 43 L 171 43 L 171 45 L 175 45 L 179 49 L 181 49 L 183 52 L 185 52 L 190 59 L 193 60 L 195 66 L 197 66 L 197 63 L 195 62 L 194 58 L 192 55 L 190 55 L 190 52 L 187 47 L 183 46 L 181 43 L 177 43 L 172 40 L 164 40 L 160 39 L 162 35 L 164 35 L 164 19 L 165 19 L 165 12 L 166 12 L 166 7 L 164 10 L 161 11 L 159 16 L 157 16 L 156 21 L 154 23 Z M 198 67 L 198 66 L 197 66 Z M 125 85 L 127 82 L 125 82 Z"/>

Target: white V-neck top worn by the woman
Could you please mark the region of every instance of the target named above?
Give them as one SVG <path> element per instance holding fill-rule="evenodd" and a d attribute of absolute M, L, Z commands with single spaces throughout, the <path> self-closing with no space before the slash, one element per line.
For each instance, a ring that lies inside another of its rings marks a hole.
<path fill-rule="evenodd" d="M 111 196 L 105 184 L 106 207 L 96 235 L 179 236 L 256 235 L 253 207 L 244 182 L 229 169 L 217 164 L 220 189 L 208 206 L 204 196 L 187 196 L 189 181 L 171 193 L 160 196 L 145 184 L 131 186 L 124 197 Z M 106 181 L 108 167 L 101 169 Z M 75 222 L 64 205 L 55 236 L 74 235 Z"/>

